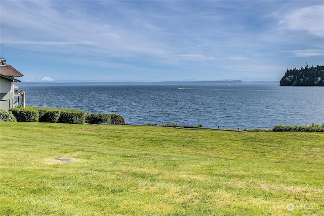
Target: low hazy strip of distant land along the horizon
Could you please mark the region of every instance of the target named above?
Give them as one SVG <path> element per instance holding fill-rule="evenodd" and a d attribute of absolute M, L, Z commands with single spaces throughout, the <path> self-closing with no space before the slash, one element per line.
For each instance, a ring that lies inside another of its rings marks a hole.
<path fill-rule="evenodd" d="M 63 86 L 63 85 L 168 85 L 168 84 L 279 84 L 279 81 L 242 81 L 242 80 L 215 80 L 215 81 L 160 81 L 160 82 L 25 82 L 19 87 L 28 86 Z"/>

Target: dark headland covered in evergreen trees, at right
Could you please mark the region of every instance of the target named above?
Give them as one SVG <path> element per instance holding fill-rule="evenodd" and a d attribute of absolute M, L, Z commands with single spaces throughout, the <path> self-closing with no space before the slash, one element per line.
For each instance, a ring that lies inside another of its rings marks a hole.
<path fill-rule="evenodd" d="M 280 80 L 280 85 L 290 86 L 324 86 L 324 65 L 317 65 L 300 69 L 287 69 Z"/>

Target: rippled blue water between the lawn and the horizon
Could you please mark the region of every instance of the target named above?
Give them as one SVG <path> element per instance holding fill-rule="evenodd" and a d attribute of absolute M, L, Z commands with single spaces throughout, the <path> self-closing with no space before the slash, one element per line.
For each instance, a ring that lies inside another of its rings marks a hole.
<path fill-rule="evenodd" d="M 271 128 L 324 122 L 323 87 L 277 84 L 24 87 L 26 105 L 118 113 L 128 124 Z"/>

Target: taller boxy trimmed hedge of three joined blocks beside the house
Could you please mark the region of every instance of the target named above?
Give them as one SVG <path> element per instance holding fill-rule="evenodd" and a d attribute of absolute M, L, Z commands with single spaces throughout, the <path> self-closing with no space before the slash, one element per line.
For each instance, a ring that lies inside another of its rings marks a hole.
<path fill-rule="evenodd" d="M 85 112 L 72 109 L 53 109 L 53 108 L 12 108 L 17 121 L 24 122 L 60 122 L 69 124 L 84 124 Z"/>

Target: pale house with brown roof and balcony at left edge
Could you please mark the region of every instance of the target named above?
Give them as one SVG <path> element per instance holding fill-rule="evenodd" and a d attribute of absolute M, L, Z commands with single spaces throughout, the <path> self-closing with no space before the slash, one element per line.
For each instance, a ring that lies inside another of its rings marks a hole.
<path fill-rule="evenodd" d="M 0 109 L 8 111 L 14 107 L 25 107 L 25 92 L 15 85 L 15 82 L 20 82 L 15 78 L 17 76 L 23 75 L 7 65 L 5 58 L 0 58 Z"/>

